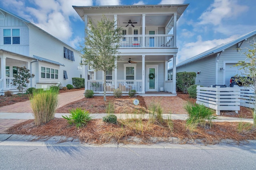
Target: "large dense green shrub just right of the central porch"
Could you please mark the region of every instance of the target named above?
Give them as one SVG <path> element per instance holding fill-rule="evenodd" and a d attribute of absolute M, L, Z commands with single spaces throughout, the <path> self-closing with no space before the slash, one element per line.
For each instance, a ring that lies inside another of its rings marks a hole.
<path fill-rule="evenodd" d="M 188 87 L 195 84 L 195 72 L 178 72 L 176 74 L 176 88 L 177 91 L 188 93 Z"/>

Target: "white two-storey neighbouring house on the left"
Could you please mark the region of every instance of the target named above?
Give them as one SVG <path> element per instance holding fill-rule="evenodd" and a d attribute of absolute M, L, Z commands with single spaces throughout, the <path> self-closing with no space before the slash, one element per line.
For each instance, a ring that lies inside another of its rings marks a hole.
<path fill-rule="evenodd" d="M 34 78 L 28 87 L 49 88 L 72 84 L 72 77 L 83 77 L 81 53 L 27 21 L 0 8 L 0 95 L 11 90 L 17 66 L 26 66 Z"/>

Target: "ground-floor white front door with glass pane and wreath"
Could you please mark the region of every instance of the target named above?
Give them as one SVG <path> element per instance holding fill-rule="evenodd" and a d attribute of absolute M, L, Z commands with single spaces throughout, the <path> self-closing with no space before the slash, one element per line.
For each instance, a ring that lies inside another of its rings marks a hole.
<path fill-rule="evenodd" d="M 157 92 L 157 66 L 147 66 L 147 91 Z"/>

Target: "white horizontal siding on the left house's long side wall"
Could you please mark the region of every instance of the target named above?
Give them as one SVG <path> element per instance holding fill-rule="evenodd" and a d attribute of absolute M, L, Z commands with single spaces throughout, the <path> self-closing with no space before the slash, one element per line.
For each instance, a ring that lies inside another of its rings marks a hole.
<path fill-rule="evenodd" d="M 69 59 L 64 58 L 64 47 L 74 52 L 75 61 L 71 61 Z M 30 25 L 30 56 L 33 56 L 33 55 L 42 57 L 44 59 L 56 61 L 65 65 L 65 66 L 58 66 L 54 64 L 55 65 L 54 68 L 57 69 L 58 67 L 58 71 L 59 71 L 58 79 L 55 80 L 54 82 L 60 82 L 62 86 L 66 86 L 67 84 L 72 84 L 73 77 L 80 78 L 80 74 L 84 75 L 82 73 L 82 70 L 78 69 L 78 66 L 80 66 L 80 61 L 81 61 L 81 57 L 80 57 L 81 54 L 78 51 L 68 47 L 58 39 L 55 39 L 54 37 L 43 32 L 41 29 L 38 29 Z M 38 78 L 40 78 L 40 69 L 41 69 L 40 65 L 42 63 L 44 63 L 44 65 L 48 64 L 46 62 L 39 62 L 39 66 L 38 66 L 39 72 L 38 72 L 38 75 L 36 75 L 38 76 Z M 63 74 L 64 70 L 67 72 L 68 79 L 64 79 L 64 74 Z M 48 80 L 46 80 L 46 82 L 48 82 Z M 43 82 L 40 81 L 40 83 L 43 83 Z"/>

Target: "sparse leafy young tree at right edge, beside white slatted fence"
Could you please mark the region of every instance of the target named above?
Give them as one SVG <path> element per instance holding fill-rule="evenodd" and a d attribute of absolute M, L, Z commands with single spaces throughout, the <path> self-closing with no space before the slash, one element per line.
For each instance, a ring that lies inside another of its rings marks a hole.
<path fill-rule="evenodd" d="M 253 111 L 253 124 L 256 126 L 256 37 L 249 40 L 250 46 L 252 48 L 244 48 L 247 51 L 243 54 L 246 55 L 244 61 L 238 61 L 235 66 L 240 66 L 240 70 L 243 70 L 242 77 L 236 76 L 236 81 L 240 81 L 243 86 L 248 86 L 253 92 L 254 95 L 254 111 Z M 238 49 L 241 50 L 241 49 Z"/>

